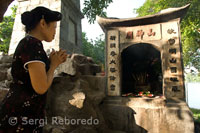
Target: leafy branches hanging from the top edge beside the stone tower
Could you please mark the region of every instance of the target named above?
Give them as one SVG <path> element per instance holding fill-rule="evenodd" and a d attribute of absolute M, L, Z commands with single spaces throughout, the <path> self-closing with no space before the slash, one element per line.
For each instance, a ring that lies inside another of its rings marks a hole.
<path fill-rule="evenodd" d="M 89 19 L 89 23 L 94 23 L 96 15 L 105 17 L 104 9 L 112 3 L 112 0 L 84 0 L 83 14 Z"/>

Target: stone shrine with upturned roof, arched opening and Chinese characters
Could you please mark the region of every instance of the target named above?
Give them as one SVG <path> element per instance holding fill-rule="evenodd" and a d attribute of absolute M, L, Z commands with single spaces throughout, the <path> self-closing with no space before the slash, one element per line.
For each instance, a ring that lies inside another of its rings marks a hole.
<path fill-rule="evenodd" d="M 155 15 L 98 17 L 106 34 L 109 128 L 125 132 L 192 133 L 185 102 L 180 22 L 189 5 Z"/>

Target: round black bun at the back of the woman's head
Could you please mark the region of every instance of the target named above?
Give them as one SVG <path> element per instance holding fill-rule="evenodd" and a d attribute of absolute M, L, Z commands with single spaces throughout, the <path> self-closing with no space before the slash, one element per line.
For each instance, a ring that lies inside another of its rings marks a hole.
<path fill-rule="evenodd" d="M 33 14 L 29 11 L 26 11 L 21 15 L 22 24 L 24 24 L 26 26 L 30 25 L 32 19 L 33 19 Z"/>

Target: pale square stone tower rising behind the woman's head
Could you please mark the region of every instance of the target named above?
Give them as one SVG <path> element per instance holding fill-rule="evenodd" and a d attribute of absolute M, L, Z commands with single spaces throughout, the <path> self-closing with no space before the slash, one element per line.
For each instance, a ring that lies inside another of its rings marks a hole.
<path fill-rule="evenodd" d="M 62 21 L 57 23 L 55 39 L 43 42 L 46 51 L 66 49 L 68 53 L 81 53 L 82 29 L 80 0 L 18 0 L 18 9 L 9 47 L 9 55 L 13 54 L 18 42 L 25 36 L 24 26 L 21 23 L 21 14 L 30 11 L 36 6 L 44 6 L 63 14 Z"/>

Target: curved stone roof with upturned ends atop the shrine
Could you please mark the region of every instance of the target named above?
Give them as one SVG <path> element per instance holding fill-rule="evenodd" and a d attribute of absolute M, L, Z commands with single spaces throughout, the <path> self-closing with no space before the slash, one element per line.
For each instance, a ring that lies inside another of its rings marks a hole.
<path fill-rule="evenodd" d="M 168 8 L 154 15 L 147 15 L 144 17 L 135 18 L 103 18 L 97 16 L 97 22 L 105 31 L 109 27 L 128 27 L 167 22 L 173 19 L 182 19 L 186 14 L 190 4 L 179 8 Z"/>

